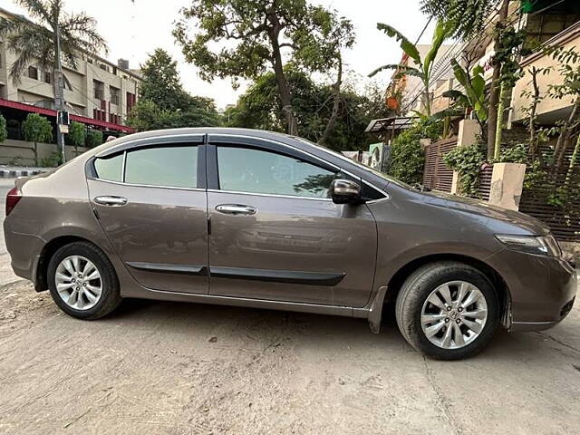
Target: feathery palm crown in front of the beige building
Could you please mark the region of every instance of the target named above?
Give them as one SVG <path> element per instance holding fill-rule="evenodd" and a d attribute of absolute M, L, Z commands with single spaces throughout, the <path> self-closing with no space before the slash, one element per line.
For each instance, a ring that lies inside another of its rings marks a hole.
<path fill-rule="evenodd" d="M 10 67 L 10 75 L 15 83 L 32 63 L 43 69 L 54 68 L 56 53 L 56 27 L 60 29 L 61 55 L 63 63 L 76 70 L 79 53 L 98 54 L 106 52 L 107 45 L 96 31 L 96 21 L 91 16 L 64 11 L 64 0 L 15 0 L 23 6 L 31 22 L 21 15 L 9 20 L 0 17 L 0 39 L 5 47 L 16 53 L 16 60 Z"/>

